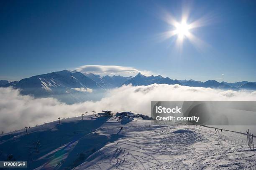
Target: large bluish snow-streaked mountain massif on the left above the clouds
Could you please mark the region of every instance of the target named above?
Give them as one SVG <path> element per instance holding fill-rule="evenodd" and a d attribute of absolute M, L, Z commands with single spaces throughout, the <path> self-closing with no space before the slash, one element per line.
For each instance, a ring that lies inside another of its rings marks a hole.
<path fill-rule="evenodd" d="M 103 90 L 102 86 L 81 72 L 68 70 L 36 75 L 0 85 L 0 87 L 9 86 L 20 89 L 23 95 L 54 97 L 67 103 L 91 100 L 93 95 L 90 95 L 90 92 Z"/>

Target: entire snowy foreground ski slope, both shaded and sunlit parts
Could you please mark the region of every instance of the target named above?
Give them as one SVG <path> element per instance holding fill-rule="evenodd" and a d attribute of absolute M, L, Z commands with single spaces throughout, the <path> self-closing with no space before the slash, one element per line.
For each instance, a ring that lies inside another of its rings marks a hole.
<path fill-rule="evenodd" d="M 216 135 L 210 128 L 152 125 L 140 118 L 80 119 L 33 127 L 28 135 L 0 135 L 0 160 L 12 154 L 11 160 L 28 161 L 37 170 L 256 169 L 256 154 L 239 133 Z"/>

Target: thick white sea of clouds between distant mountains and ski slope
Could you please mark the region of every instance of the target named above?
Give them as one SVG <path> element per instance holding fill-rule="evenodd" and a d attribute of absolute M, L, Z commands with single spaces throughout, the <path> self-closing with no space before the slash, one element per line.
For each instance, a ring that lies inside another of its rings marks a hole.
<path fill-rule="evenodd" d="M 19 90 L 0 88 L 0 131 L 18 130 L 57 120 L 74 117 L 84 111 L 131 110 L 150 115 L 151 101 L 256 101 L 256 91 L 215 90 L 203 87 L 153 84 L 131 85 L 109 90 L 100 101 L 86 101 L 67 105 L 54 98 L 34 99 L 20 95 Z"/>

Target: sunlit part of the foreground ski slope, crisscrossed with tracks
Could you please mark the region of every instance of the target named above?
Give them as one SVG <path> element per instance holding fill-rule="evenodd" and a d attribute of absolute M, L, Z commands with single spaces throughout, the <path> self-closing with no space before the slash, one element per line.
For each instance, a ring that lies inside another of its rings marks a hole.
<path fill-rule="evenodd" d="M 127 126 L 128 125 L 128 126 Z M 91 155 L 82 169 L 255 169 L 255 154 L 249 151 L 246 135 L 219 133 L 235 141 L 231 145 L 214 130 L 199 126 L 154 126 L 145 120 L 128 123 L 120 131 L 103 126 L 101 134 L 123 135 Z M 207 131 L 208 130 L 208 131 Z M 211 132 L 209 131 L 211 130 Z M 120 131 L 120 132 L 119 132 Z"/>

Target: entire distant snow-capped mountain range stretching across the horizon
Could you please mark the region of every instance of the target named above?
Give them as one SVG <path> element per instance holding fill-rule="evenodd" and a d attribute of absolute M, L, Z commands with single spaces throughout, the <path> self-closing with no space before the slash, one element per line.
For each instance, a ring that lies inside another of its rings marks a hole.
<path fill-rule="evenodd" d="M 138 73 L 135 77 L 123 76 L 100 76 L 93 73 L 82 73 L 76 70 L 63 70 L 51 72 L 43 75 L 36 75 L 20 81 L 8 82 L 0 80 L 0 87 L 18 88 L 23 95 L 33 95 L 35 97 L 55 97 L 63 102 L 74 103 L 85 100 L 97 100 L 102 97 L 102 93 L 107 89 L 131 84 L 151 85 L 151 84 L 179 84 L 191 87 L 210 87 L 218 89 L 232 90 L 256 90 L 256 82 L 217 82 L 208 80 L 206 82 L 196 80 L 172 80 L 161 75 L 145 76 Z"/>

